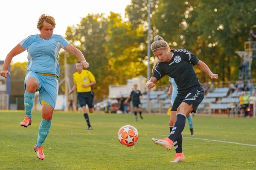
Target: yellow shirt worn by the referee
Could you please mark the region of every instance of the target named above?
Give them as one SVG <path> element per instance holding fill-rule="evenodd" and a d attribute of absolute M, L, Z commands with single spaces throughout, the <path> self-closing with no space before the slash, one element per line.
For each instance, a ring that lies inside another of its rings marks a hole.
<path fill-rule="evenodd" d="M 83 87 L 82 84 L 90 84 L 95 81 L 95 78 L 90 71 L 82 70 L 80 74 L 79 72 L 73 74 L 73 80 L 77 86 L 77 92 L 90 92 L 92 90 L 91 86 Z"/>

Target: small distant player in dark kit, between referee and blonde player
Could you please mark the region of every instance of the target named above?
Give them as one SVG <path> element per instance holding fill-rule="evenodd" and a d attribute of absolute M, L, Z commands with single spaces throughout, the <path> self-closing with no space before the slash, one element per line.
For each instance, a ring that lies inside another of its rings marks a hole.
<path fill-rule="evenodd" d="M 131 95 L 125 100 L 125 103 L 131 98 L 132 104 L 134 106 L 134 115 L 136 121 L 138 120 L 137 117 L 137 111 L 140 113 L 140 118 L 143 119 L 142 117 L 142 111 L 141 111 L 141 104 L 140 104 L 140 99 L 142 98 L 142 94 L 140 90 L 137 90 L 137 84 L 134 84 L 134 90 L 131 92 Z"/>

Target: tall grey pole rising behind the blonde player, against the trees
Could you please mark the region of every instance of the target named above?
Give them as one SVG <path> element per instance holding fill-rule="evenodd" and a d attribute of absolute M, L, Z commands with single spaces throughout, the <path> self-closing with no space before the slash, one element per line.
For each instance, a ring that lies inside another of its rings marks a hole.
<path fill-rule="evenodd" d="M 149 81 L 150 79 L 150 28 L 151 28 L 151 23 L 150 23 L 150 14 L 151 14 L 151 6 L 150 6 L 150 2 L 151 0 L 148 0 L 148 51 L 147 51 L 147 55 L 148 55 L 148 68 L 147 68 L 147 79 Z M 151 107 L 150 107 L 150 90 L 147 90 L 147 98 L 148 98 L 148 113 L 151 112 Z"/>

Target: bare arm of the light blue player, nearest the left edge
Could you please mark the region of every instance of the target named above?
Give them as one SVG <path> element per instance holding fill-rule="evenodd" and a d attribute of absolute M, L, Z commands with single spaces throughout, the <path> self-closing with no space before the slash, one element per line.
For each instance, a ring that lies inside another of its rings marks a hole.
<path fill-rule="evenodd" d="M 12 61 L 12 58 L 15 57 L 16 55 L 24 52 L 26 49 L 24 49 L 20 44 L 18 44 L 17 46 L 15 46 L 10 52 L 9 54 L 6 56 L 6 59 L 3 63 L 3 69 L 0 72 L 0 75 L 3 76 L 4 78 L 7 77 L 7 75 L 11 75 L 10 72 L 8 72 L 8 68 L 10 66 L 10 63 Z"/>

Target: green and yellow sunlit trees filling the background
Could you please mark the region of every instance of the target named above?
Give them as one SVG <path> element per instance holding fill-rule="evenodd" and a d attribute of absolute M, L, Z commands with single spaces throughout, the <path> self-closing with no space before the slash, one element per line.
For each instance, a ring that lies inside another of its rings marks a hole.
<path fill-rule="evenodd" d="M 244 50 L 249 30 L 256 27 L 254 1 L 151 0 L 151 42 L 155 35 L 160 35 L 172 49 L 188 49 L 204 61 L 212 72 L 219 75 L 219 81 L 235 81 L 241 63 L 235 51 Z M 131 0 L 125 9 L 125 20 L 113 12 L 108 17 L 88 14 L 77 26 L 67 27 L 67 40 L 80 49 L 90 63 L 88 69 L 96 77 L 93 90 L 98 98 L 108 95 L 110 84 L 126 84 L 129 78 L 139 75 L 146 77 L 147 4 L 148 0 Z M 67 53 L 68 64 L 76 61 L 76 56 Z M 59 55 L 59 63 L 62 79 L 63 52 Z M 253 62 L 253 75 L 255 69 Z M 197 66 L 195 72 L 201 82 L 210 80 Z M 12 76 L 16 73 L 21 74 L 17 71 Z M 70 80 L 73 73 L 74 70 L 70 69 Z M 17 78 L 22 76 L 17 75 Z M 157 82 L 157 85 L 166 84 L 169 84 L 167 76 Z M 61 89 L 60 93 L 63 93 L 63 87 Z M 13 94 L 17 92 L 12 91 Z"/>

